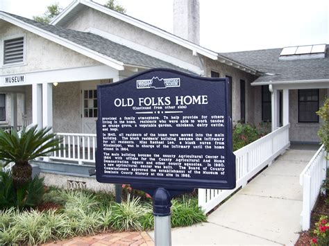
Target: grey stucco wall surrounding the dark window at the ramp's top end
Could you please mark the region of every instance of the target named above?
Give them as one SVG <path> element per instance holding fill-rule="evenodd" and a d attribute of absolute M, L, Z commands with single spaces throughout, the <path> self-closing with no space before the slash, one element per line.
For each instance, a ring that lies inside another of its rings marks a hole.
<path fill-rule="evenodd" d="M 321 107 L 329 96 L 327 89 L 319 90 L 319 107 Z M 322 124 L 319 123 L 298 123 L 298 90 L 289 90 L 289 138 L 290 141 L 320 142 L 317 132 Z"/>

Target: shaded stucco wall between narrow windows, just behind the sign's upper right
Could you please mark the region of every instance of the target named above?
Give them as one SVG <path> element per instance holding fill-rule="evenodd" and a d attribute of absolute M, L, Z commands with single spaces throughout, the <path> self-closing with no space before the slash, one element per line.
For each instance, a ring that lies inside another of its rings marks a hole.
<path fill-rule="evenodd" d="M 255 76 L 246 73 L 226 64 L 205 59 L 205 76 L 210 77 L 211 71 L 219 72 L 221 78 L 225 76 L 232 77 L 232 118 L 233 123 L 241 120 L 240 108 L 240 80 L 246 82 L 246 122 L 255 123 L 255 110 L 254 110 L 254 88 L 251 87 L 251 82 L 255 80 Z"/>

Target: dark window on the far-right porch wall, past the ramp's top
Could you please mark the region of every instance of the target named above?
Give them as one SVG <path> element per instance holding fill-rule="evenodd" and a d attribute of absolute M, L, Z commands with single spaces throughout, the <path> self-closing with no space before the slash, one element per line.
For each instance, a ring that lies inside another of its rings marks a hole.
<path fill-rule="evenodd" d="M 298 122 L 319 122 L 319 89 L 298 89 Z"/>

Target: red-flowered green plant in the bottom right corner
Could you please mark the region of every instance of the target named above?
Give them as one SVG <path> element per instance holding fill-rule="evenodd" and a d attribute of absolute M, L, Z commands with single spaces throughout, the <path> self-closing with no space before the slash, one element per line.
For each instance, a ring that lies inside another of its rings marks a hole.
<path fill-rule="evenodd" d="M 326 246 L 329 245 L 329 222 L 328 216 L 321 216 L 320 220 L 315 223 L 314 238 L 311 245 Z"/>

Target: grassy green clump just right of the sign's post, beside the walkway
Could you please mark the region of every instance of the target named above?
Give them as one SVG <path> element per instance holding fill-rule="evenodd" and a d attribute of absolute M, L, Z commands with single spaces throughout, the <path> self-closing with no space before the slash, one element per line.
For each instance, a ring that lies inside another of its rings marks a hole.
<path fill-rule="evenodd" d="M 207 217 L 203 211 L 199 209 L 198 200 L 196 199 L 185 201 L 183 198 L 183 202 L 173 200 L 171 212 L 171 227 L 186 227 L 207 221 Z"/>

